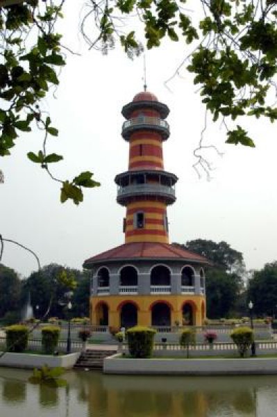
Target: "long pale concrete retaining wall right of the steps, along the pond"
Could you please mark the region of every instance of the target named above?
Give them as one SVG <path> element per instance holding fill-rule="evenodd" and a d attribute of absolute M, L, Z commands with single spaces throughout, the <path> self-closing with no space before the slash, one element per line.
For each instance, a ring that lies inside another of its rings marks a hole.
<path fill-rule="evenodd" d="M 275 358 L 104 360 L 103 373 L 130 375 L 277 375 Z"/>

